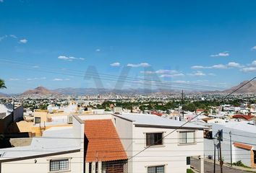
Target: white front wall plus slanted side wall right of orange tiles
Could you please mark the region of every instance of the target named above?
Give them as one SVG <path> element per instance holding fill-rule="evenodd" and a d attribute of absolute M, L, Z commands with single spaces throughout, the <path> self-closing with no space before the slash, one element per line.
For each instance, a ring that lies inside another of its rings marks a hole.
<path fill-rule="evenodd" d="M 163 132 L 166 136 L 174 129 L 163 128 L 139 128 L 132 122 L 116 118 L 116 129 L 119 137 L 127 151 L 128 158 L 135 156 L 146 147 L 145 133 Z M 132 131 L 131 131 L 132 130 Z M 126 140 L 124 138 L 132 138 Z M 152 146 L 128 162 L 129 172 L 148 172 L 147 167 L 165 165 L 165 172 L 184 173 L 187 167 L 187 156 L 203 156 L 203 132 L 195 131 L 197 144 L 179 145 L 179 133 L 175 131 L 170 136 L 163 139 L 163 146 Z"/>

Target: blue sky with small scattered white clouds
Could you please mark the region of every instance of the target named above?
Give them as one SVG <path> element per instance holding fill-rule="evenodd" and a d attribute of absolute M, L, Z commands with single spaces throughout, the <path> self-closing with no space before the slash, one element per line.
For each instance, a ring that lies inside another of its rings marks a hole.
<path fill-rule="evenodd" d="M 1 92 L 94 87 L 88 66 L 113 75 L 100 75 L 106 88 L 124 68 L 136 79 L 227 88 L 256 74 L 255 9 L 253 0 L 0 0 Z"/>

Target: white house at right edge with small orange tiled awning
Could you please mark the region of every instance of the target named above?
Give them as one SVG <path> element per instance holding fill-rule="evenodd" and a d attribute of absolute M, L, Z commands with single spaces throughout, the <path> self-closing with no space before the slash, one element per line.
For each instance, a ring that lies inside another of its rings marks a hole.
<path fill-rule="evenodd" d="M 247 121 L 213 123 L 213 136 L 218 130 L 223 130 L 221 142 L 224 162 L 242 161 L 247 167 L 256 167 L 256 125 Z M 231 133 L 231 138 L 230 138 Z M 231 140 L 231 141 L 230 141 Z M 205 156 L 213 156 L 213 140 L 205 139 Z M 219 151 L 216 152 L 219 159 Z"/>

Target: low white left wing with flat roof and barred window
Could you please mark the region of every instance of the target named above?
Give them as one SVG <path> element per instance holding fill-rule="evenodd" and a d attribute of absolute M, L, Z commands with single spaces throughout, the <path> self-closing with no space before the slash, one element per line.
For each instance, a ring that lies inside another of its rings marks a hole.
<path fill-rule="evenodd" d="M 30 146 L 0 149 L 1 173 L 84 172 L 84 125 L 50 128 Z"/>

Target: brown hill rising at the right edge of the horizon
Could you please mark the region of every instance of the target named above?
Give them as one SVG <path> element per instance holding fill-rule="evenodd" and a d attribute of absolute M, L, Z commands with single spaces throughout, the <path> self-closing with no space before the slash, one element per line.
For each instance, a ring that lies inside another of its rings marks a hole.
<path fill-rule="evenodd" d="M 243 81 L 239 85 L 233 86 L 231 89 L 226 89 L 223 91 L 224 93 L 230 93 L 233 92 L 234 90 L 238 89 L 240 86 L 246 84 L 248 81 Z M 249 93 L 249 92 L 254 92 L 256 93 L 256 81 L 250 81 L 248 84 L 243 86 L 241 89 L 239 89 L 236 93 Z"/>

